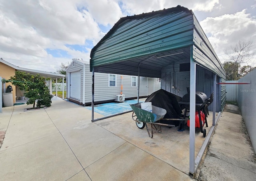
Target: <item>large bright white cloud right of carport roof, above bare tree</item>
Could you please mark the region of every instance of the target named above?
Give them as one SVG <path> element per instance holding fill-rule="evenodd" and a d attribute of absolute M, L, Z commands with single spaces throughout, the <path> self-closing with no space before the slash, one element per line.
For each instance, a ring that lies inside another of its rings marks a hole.
<path fill-rule="evenodd" d="M 235 14 L 224 14 L 216 18 L 206 18 L 200 22 L 214 50 L 222 59 L 224 50 L 230 50 L 239 40 L 256 42 L 256 19 L 246 10 Z M 223 61 L 223 60 L 222 60 Z"/>

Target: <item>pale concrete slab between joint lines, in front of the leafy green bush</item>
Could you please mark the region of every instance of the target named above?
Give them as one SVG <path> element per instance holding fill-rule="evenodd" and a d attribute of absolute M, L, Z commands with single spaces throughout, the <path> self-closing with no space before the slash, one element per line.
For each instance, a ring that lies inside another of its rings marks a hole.
<path fill-rule="evenodd" d="M 6 131 L 1 150 L 17 147 L 58 133 L 58 129 L 56 129 L 44 109 L 24 112 L 24 107 L 28 107 L 27 105 L 14 107 L 14 113 Z"/>

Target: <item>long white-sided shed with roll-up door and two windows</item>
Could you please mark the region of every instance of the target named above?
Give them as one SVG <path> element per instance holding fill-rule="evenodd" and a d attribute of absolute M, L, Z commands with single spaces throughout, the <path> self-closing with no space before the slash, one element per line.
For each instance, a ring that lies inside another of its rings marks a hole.
<path fill-rule="evenodd" d="M 83 60 L 73 59 L 66 70 L 68 100 L 91 105 L 92 72 L 90 64 Z M 140 77 L 140 97 L 147 97 L 161 87 L 159 78 Z M 111 102 L 116 95 L 125 95 L 125 99 L 136 99 L 138 96 L 138 76 L 120 74 L 95 73 L 94 101 L 96 103 Z"/>

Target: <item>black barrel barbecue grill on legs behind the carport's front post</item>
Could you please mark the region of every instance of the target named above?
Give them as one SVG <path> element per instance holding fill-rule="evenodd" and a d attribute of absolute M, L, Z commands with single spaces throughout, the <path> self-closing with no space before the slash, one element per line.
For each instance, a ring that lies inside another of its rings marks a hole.
<path fill-rule="evenodd" d="M 190 93 L 185 94 L 181 100 L 182 101 L 180 101 L 179 104 L 185 107 L 185 113 L 184 113 L 184 118 L 185 118 L 187 111 L 190 110 L 190 107 L 189 107 Z M 200 112 L 202 111 L 204 115 L 206 115 L 206 111 L 204 108 L 208 102 L 209 102 L 209 99 L 207 98 L 207 95 L 205 93 L 196 91 L 196 111 L 198 111 L 198 114 L 199 114 L 200 131 L 201 133 L 203 133 L 204 137 L 206 136 L 206 129 L 203 129 Z M 205 116 L 205 124 L 206 124 L 206 127 L 208 127 L 206 116 Z M 181 127 L 183 126 L 184 124 Z"/>

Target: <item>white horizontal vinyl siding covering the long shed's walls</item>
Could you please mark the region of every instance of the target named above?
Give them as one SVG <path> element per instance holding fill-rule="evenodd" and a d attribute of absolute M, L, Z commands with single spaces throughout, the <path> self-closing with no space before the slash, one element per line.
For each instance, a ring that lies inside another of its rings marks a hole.
<path fill-rule="evenodd" d="M 73 60 L 74 61 L 74 60 Z M 80 102 L 82 102 L 83 97 L 83 63 L 75 62 L 75 66 L 73 62 L 71 62 L 70 66 L 67 68 L 67 97 L 70 97 L 70 73 L 80 71 Z M 138 85 L 136 87 L 132 87 L 132 76 L 130 75 L 122 75 L 123 80 L 121 79 L 121 75 L 116 74 L 116 87 L 108 86 L 108 74 L 106 73 L 98 73 L 94 74 L 94 101 L 113 101 L 116 99 L 116 95 L 121 93 L 121 85 L 123 85 L 122 94 L 125 95 L 125 98 L 132 98 L 138 96 Z M 137 78 L 138 79 L 138 78 Z M 138 80 L 137 80 L 138 83 Z M 154 91 L 159 90 L 159 82 L 157 78 L 154 78 Z M 147 96 L 147 78 L 140 77 L 140 97 Z M 90 65 L 85 64 L 85 103 L 88 104 L 92 101 L 92 72 L 90 72 Z"/>

